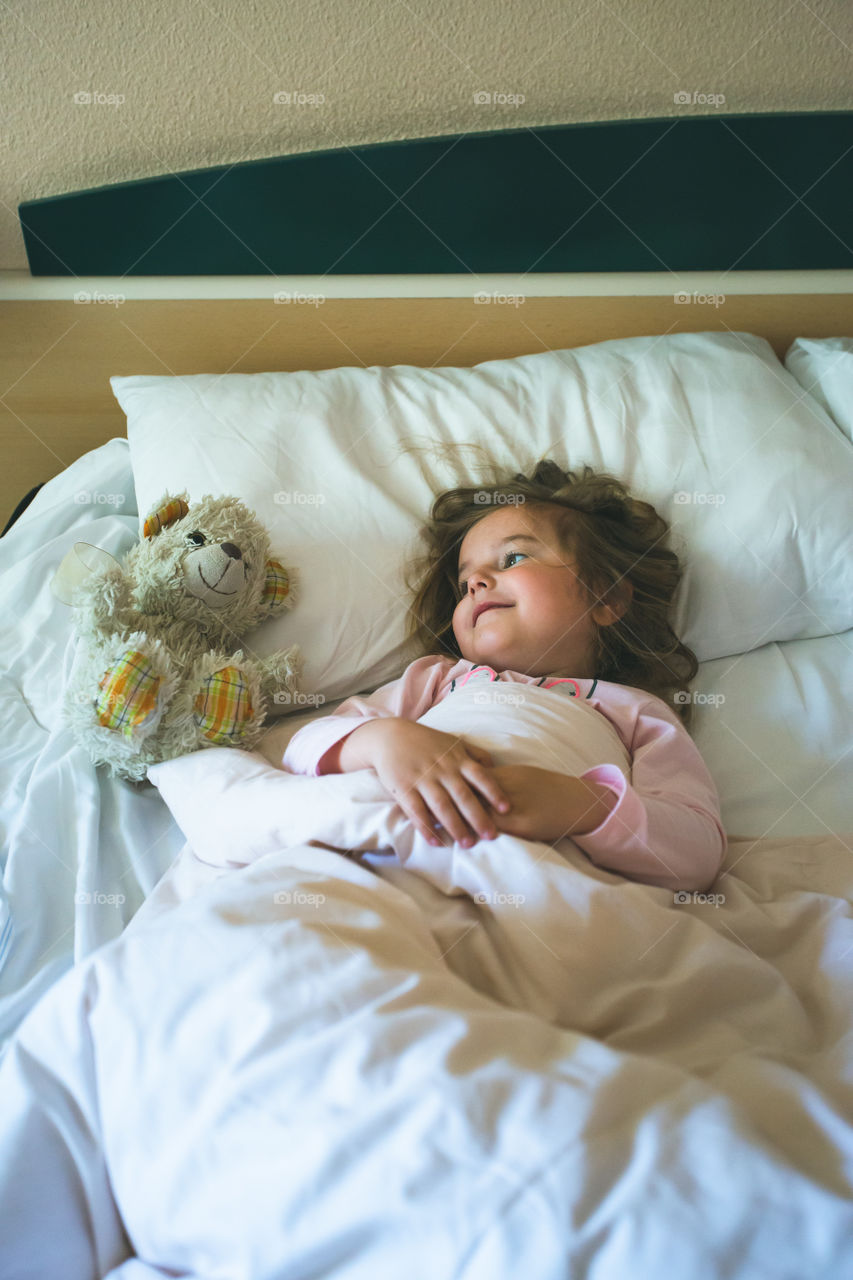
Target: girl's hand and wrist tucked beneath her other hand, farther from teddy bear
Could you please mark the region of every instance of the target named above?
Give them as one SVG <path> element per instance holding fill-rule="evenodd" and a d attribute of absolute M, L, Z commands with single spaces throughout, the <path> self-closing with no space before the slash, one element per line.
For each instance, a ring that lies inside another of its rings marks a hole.
<path fill-rule="evenodd" d="M 581 836 L 599 827 L 616 804 L 610 787 L 530 764 L 502 764 L 492 774 L 510 800 L 510 812 L 496 818 L 498 829 L 523 840 L 553 845 Z"/>

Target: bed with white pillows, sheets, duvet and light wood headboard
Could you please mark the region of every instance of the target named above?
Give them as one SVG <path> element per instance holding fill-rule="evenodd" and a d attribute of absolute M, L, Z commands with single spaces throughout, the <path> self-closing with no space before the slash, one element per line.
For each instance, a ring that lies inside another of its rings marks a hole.
<path fill-rule="evenodd" d="M 701 323 L 649 278 L 517 306 L 489 280 L 491 307 L 347 283 L 298 314 L 126 284 L 29 403 L 63 465 L 0 540 L 0 1274 L 841 1280 L 847 280 L 731 276 Z M 72 306 L 4 303 L 14 358 Z M 430 864 L 374 829 L 334 851 L 307 838 L 323 780 L 280 769 L 302 723 L 403 669 L 429 494 L 485 476 L 483 451 L 548 448 L 624 474 L 686 557 L 692 735 L 729 836 L 708 892 L 525 841 Z M 297 566 L 296 607 L 252 643 L 302 646 L 304 696 L 257 750 L 133 785 L 58 716 L 74 641 L 51 579 L 78 541 L 120 557 L 181 490 L 237 493 Z"/>

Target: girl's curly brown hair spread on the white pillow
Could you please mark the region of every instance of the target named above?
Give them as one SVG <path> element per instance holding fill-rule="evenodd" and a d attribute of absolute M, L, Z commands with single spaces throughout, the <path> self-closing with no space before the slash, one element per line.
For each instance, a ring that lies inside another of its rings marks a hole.
<path fill-rule="evenodd" d="M 409 639 L 424 654 L 461 658 L 452 616 L 459 603 L 459 549 L 465 534 L 498 504 L 521 499 L 560 507 L 562 549 L 575 563 L 589 607 L 625 600 L 622 616 L 596 626 L 594 671 L 598 680 L 644 689 L 667 701 L 690 722 L 686 686 L 698 660 L 670 623 L 683 570 L 665 545 L 669 524 L 648 502 L 633 498 L 615 476 L 589 466 L 575 474 L 542 458 L 530 476 L 450 489 L 434 500 L 423 530 L 426 553 L 407 571 L 415 594 Z M 625 591 L 625 582 L 631 591 Z"/>

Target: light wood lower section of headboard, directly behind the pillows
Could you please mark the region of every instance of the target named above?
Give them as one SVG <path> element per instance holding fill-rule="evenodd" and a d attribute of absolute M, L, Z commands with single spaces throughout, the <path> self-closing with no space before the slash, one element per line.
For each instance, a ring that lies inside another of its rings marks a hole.
<path fill-rule="evenodd" d="M 126 434 L 114 374 L 261 372 L 342 365 L 474 365 L 675 332 L 760 334 L 781 358 L 795 337 L 853 334 L 853 292 L 667 296 L 327 297 L 0 301 L 0 529 L 35 485 Z"/>

